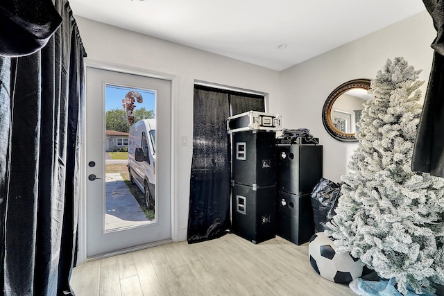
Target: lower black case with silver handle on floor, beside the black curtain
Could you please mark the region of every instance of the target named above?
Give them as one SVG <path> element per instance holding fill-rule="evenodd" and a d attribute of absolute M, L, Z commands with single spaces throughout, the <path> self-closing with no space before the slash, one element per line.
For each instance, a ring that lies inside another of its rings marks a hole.
<path fill-rule="evenodd" d="M 233 184 L 232 232 L 253 243 L 274 238 L 276 233 L 276 186 Z"/>

